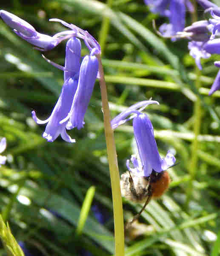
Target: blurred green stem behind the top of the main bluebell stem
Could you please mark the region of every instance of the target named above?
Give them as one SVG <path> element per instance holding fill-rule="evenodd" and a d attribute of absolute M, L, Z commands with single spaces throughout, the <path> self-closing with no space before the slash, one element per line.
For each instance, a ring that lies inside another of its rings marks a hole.
<path fill-rule="evenodd" d="M 113 3 L 113 0 L 107 0 L 106 6 L 111 8 L 112 3 Z M 100 35 L 99 35 L 99 44 L 102 49 L 102 54 L 104 53 L 105 45 L 106 45 L 106 38 L 109 33 L 109 24 L 110 24 L 109 18 L 104 16 L 102 26 L 100 29 Z"/>

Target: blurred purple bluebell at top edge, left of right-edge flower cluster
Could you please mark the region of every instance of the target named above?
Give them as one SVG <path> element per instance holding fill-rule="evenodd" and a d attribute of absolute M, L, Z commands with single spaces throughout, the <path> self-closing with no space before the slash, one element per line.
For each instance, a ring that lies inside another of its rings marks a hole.
<path fill-rule="evenodd" d="M 159 13 L 169 18 L 169 24 L 162 24 L 160 33 L 165 37 L 176 35 L 183 31 L 185 27 L 186 8 L 189 12 L 194 12 L 194 8 L 189 0 L 144 0 L 150 7 L 151 12 Z M 175 40 L 175 38 L 172 38 Z"/>

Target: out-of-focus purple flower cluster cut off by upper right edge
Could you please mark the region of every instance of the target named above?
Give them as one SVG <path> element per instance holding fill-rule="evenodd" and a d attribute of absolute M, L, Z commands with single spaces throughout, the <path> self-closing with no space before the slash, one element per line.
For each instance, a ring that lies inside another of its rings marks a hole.
<path fill-rule="evenodd" d="M 205 9 L 205 13 L 210 13 L 211 18 L 207 21 L 197 21 L 184 29 L 191 41 L 188 44 L 189 54 L 195 59 L 196 65 L 202 69 L 200 59 L 207 59 L 211 54 L 220 54 L 220 38 L 217 38 L 220 32 L 220 8 L 208 0 L 197 0 Z M 220 67 L 220 62 L 214 62 L 214 65 Z M 214 80 L 209 95 L 220 88 L 220 71 Z"/>

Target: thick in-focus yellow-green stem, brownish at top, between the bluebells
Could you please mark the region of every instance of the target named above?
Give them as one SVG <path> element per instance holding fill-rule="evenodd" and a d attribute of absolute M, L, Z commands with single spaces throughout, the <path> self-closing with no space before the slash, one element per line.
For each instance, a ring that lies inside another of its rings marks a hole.
<path fill-rule="evenodd" d="M 114 142 L 114 133 L 111 129 L 111 118 L 109 112 L 109 102 L 107 95 L 106 82 L 104 78 L 103 66 L 101 57 L 97 56 L 99 60 L 99 74 L 100 74 L 100 90 L 102 96 L 102 109 L 104 116 L 104 127 L 106 135 L 107 154 L 109 159 L 109 171 L 111 178 L 111 192 L 113 200 L 114 211 L 114 237 L 115 237 L 115 256 L 124 256 L 124 221 L 122 196 L 120 191 L 120 177 L 117 164 L 117 153 Z"/>

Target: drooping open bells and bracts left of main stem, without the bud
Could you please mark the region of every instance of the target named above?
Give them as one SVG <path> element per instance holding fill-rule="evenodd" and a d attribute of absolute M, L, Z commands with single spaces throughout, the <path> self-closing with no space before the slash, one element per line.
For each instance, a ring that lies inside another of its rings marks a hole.
<path fill-rule="evenodd" d="M 53 19 L 57 21 L 57 19 Z M 59 20 L 60 21 L 60 20 Z M 62 23 L 65 23 L 62 21 Z M 66 23 L 65 23 L 66 24 Z M 80 35 L 80 38 L 86 42 L 86 46 L 91 50 L 90 54 L 83 58 L 81 62 L 81 43 L 75 36 L 69 39 L 66 44 L 65 66 L 60 66 L 50 60 L 45 59 L 57 68 L 64 71 L 64 85 L 60 98 L 51 116 L 46 121 L 41 121 L 32 112 L 34 121 L 37 124 L 48 122 L 43 137 L 48 141 L 54 141 L 58 135 L 68 141 L 75 142 L 66 133 L 66 129 L 83 128 L 84 116 L 89 105 L 94 83 L 98 74 L 98 59 L 95 54 L 100 54 L 100 46 L 97 41 L 86 31 L 77 28 L 74 25 L 74 35 Z M 84 32 L 82 32 L 82 31 Z M 94 47 L 94 48 L 91 48 Z"/>

